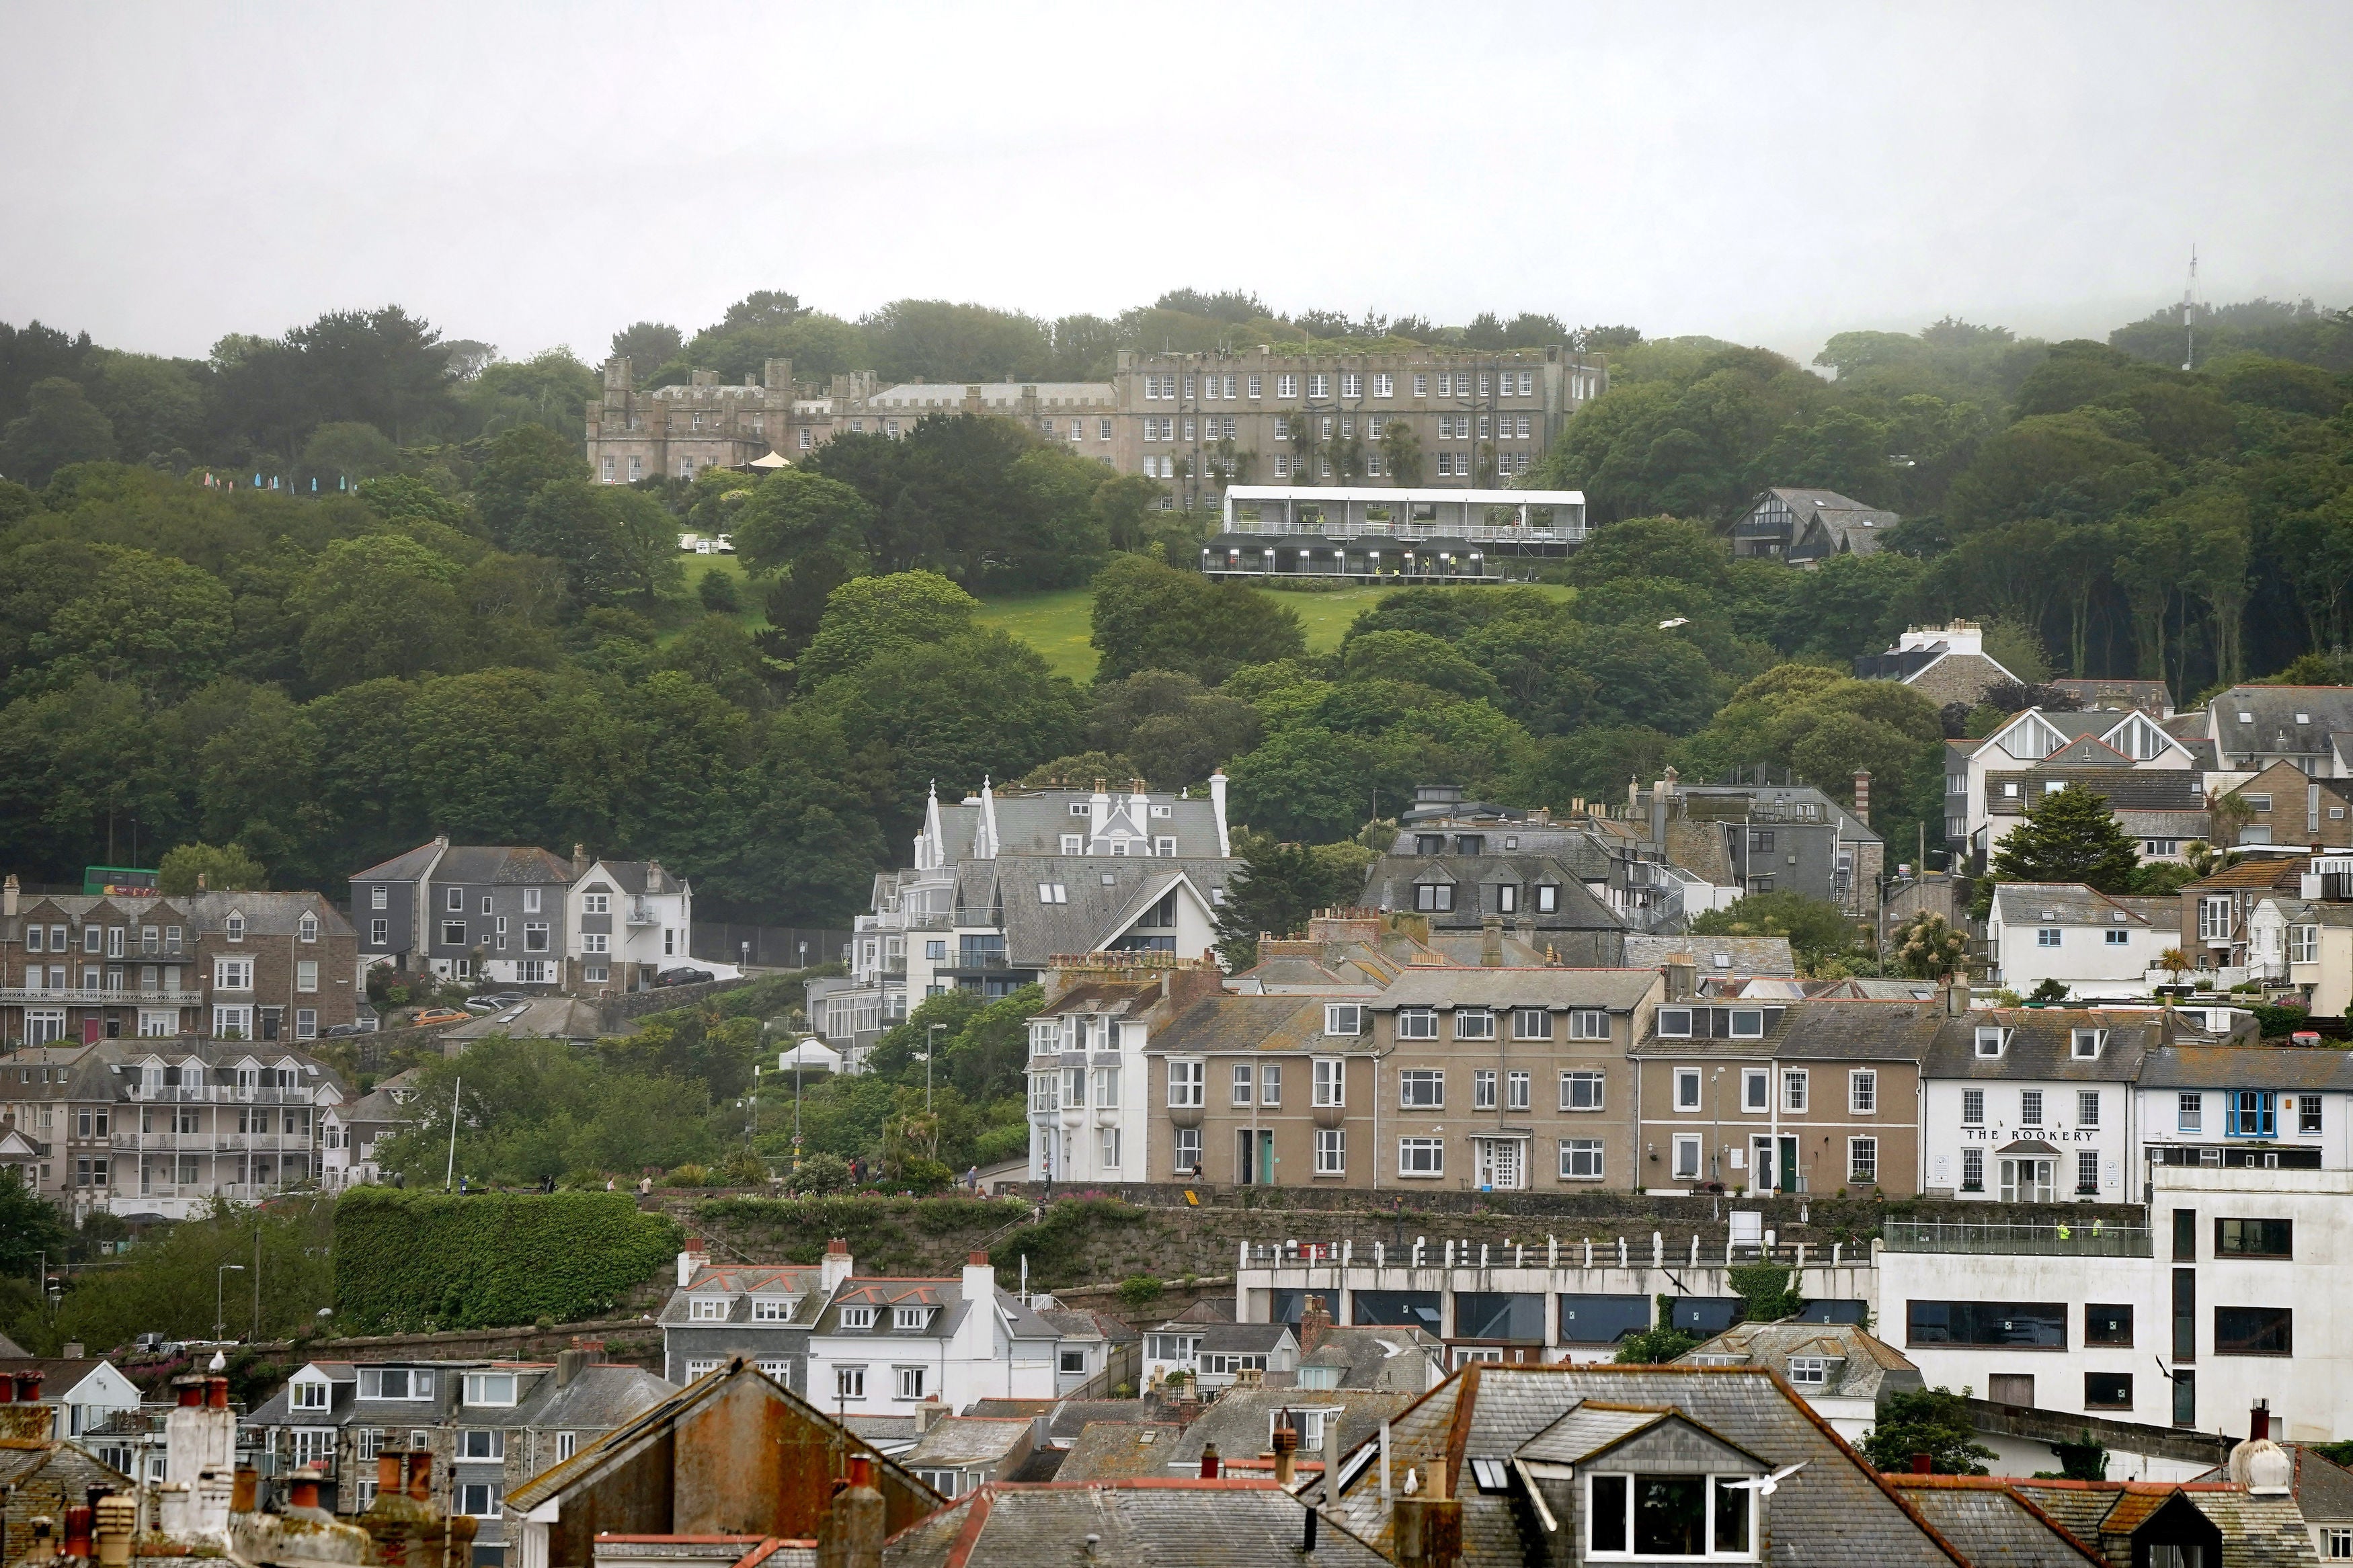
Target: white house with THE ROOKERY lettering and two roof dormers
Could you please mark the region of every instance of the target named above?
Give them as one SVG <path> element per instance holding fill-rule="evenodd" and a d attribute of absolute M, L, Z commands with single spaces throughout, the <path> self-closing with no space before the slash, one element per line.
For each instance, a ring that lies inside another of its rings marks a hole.
<path fill-rule="evenodd" d="M 2134 1201 L 2134 1084 L 2162 1037 L 2162 1013 L 2146 1009 L 1951 1020 L 1920 1065 L 1922 1190 L 1986 1204 Z"/>

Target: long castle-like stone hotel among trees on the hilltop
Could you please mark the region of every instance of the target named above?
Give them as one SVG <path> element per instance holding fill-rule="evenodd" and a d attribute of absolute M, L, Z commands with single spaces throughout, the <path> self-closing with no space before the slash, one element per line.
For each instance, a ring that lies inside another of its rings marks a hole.
<path fill-rule="evenodd" d="M 1122 353 L 1111 381 L 878 386 L 873 374 L 795 383 L 769 360 L 744 386 L 694 371 L 638 388 L 605 364 L 588 407 L 588 465 L 607 484 L 795 461 L 835 435 L 904 435 L 927 414 L 998 414 L 1118 473 L 1167 482 L 1162 505 L 1214 505 L 1221 484 L 1494 487 L 1529 470 L 1567 418 L 1609 386 L 1595 355 Z M 1398 473 L 1400 461 L 1407 465 Z"/>

